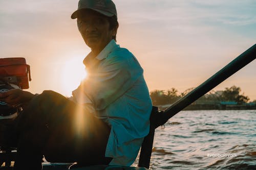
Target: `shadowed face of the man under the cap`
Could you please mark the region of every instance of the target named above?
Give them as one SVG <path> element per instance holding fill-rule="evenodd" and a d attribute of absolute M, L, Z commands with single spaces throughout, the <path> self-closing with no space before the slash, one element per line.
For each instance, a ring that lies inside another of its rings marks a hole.
<path fill-rule="evenodd" d="M 93 10 L 84 11 L 77 18 L 77 23 L 84 42 L 96 53 L 103 50 L 116 35 L 116 29 L 110 30 L 108 18 Z"/>

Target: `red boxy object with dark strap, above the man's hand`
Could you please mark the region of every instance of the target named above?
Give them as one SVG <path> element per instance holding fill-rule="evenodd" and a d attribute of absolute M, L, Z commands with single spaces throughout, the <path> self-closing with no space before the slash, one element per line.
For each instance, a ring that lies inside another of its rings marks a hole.
<path fill-rule="evenodd" d="M 28 89 L 30 66 L 26 64 L 25 58 L 0 58 L 0 81 Z"/>

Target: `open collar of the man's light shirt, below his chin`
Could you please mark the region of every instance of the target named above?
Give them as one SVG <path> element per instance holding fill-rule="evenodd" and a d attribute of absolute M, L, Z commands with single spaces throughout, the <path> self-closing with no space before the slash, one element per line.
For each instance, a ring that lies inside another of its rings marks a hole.
<path fill-rule="evenodd" d="M 96 56 L 94 57 L 92 52 L 89 53 L 86 58 L 83 59 L 83 64 L 88 66 L 89 63 L 93 60 L 93 59 L 97 59 L 97 60 L 103 60 L 106 57 L 108 57 L 108 55 L 115 50 L 115 48 L 120 47 L 118 44 L 116 44 L 116 41 L 114 39 L 112 39 L 104 48 L 103 50 Z"/>

